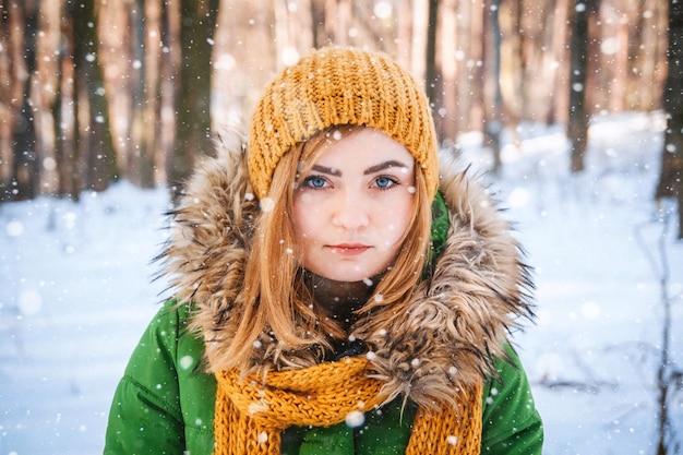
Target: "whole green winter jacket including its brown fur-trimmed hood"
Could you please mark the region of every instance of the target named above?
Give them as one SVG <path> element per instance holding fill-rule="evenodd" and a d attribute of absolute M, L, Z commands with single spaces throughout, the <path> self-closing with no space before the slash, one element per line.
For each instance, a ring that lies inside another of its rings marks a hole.
<path fill-rule="evenodd" d="M 221 340 L 235 333 L 238 318 L 226 314 L 243 301 L 244 263 L 260 216 L 257 201 L 248 196 L 243 141 L 223 139 L 225 148 L 195 170 L 173 214 L 161 255 L 173 300 L 149 324 L 119 383 L 107 455 L 213 452 L 216 381 L 205 363 L 209 359 L 212 371 L 221 371 L 226 359 L 221 344 L 204 344 L 197 331 Z M 541 453 L 541 419 L 508 339 L 518 320 L 530 316 L 531 283 L 520 248 L 487 192 L 446 156 L 432 212 L 433 255 L 408 311 L 396 316 L 391 306 L 375 309 L 371 318 L 383 333 L 368 330 L 362 319 L 351 327 L 373 352 L 373 372 L 386 378 L 384 392 L 398 398 L 367 412 L 359 428 L 344 422 L 289 428 L 283 432 L 283 453 L 404 453 L 418 406 L 482 373 L 481 453 Z M 190 323 L 195 331 L 188 330 Z M 278 343 L 267 335 L 259 342 Z M 277 358 L 262 360 L 283 367 Z M 287 349 L 287 360 L 310 366 L 311 355 Z"/>

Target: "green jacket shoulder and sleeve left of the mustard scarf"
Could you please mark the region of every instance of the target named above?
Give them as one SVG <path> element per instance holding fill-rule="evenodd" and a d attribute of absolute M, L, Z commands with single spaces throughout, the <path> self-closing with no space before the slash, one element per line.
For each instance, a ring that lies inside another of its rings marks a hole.
<path fill-rule="evenodd" d="M 149 322 L 115 392 L 105 454 L 213 451 L 215 380 L 201 371 L 189 316 L 168 301 Z"/>

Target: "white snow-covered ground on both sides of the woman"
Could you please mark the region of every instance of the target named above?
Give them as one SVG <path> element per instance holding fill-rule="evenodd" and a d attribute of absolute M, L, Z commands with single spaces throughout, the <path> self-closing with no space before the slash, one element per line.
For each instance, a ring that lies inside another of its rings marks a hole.
<path fill-rule="evenodd" d="M 515 339 L 546 454 L 655 454 L 662 290 L 670 368 L 683 369 L 683 242 L 674 205 L 651 201 L 663 124 L 597 119 L 579 176 L 561 128 L 525 124 L 491 179 L 535 267 L 538 321 Z M 462 145 L 487 167 L 478 135 Z M 0 455 L 101 453 L 111 394 L 164 290 L 149 262 L 167 208 L 165 190 L 125 182 L 79 204 L 0 205 Z M 669 412 L 681 444 L 682 391 Z"/>

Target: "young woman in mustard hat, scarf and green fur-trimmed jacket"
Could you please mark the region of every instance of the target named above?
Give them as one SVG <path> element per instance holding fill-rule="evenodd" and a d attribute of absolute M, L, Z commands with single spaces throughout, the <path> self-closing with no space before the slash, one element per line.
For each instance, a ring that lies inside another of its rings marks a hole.
<path fill-rule="evenodd" d="M 438 157 L 412 77 L 324 48 L 265 89 L 173 214 L 175 290 L 105 454 L 540 454 L 510 331 L 518 244 Z"/>

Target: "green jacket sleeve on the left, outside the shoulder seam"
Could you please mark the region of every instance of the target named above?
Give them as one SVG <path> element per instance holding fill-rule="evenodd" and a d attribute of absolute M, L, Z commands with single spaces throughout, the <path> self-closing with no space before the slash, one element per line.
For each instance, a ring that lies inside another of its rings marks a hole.
<path fill-rule="evenodd" d="M 115 392 L 105 455 L 178 454 L 184 431 L 176 370 L 178 312 L 159 310 L 133 351 Z"/>

